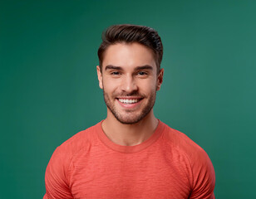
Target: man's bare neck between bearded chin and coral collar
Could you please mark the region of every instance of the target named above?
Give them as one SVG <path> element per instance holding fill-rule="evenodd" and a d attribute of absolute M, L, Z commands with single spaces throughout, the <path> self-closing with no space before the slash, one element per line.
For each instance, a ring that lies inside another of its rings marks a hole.
<path fill-rule="evenodd" d="M 153 109 L 144 119 L 135 124 L 121 124 L 114 115 L 108 112 L 106 119 L 102 122 L 102 129 L 113 143 L 134 146 L 150 138 L 157 125 L 158 119 L 155 118 Z"/>

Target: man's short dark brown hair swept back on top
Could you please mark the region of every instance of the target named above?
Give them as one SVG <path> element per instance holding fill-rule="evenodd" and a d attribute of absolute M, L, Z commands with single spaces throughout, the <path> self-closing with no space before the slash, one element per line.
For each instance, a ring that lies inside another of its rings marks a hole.
<path fill-rule="evenodd" d="M 109 46 L 122 42 L 127 44 L 137 42 L 153 51 L 157 73 L 160 71 L 160 63 L 163 57 L 163 44 L 160 36 L 153 28 L 130 24 L 114 25 L 108 27 L 106 31 L 102 33 L 101 37 L 102 42 L 98 49 L 101 69 L 104 53 Z"/>

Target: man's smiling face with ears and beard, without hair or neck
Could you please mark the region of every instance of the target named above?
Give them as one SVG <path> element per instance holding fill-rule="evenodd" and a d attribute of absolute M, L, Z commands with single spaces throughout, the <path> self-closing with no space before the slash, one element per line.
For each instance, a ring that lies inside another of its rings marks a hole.
<path fill-rule="evenodd" d="M 157 74 L 153 52 L 147 47 L 139 43 L 109 46 L 97 74 L 108 117 L 114 116 L 122 124 L 135 124 L 153 111 L 163 70 Z"/>

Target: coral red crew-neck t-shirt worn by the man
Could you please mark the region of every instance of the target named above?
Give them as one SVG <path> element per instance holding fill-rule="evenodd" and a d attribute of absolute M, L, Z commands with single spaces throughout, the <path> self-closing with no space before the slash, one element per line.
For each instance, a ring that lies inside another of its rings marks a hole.
<path fill-rule="evenodd" d="M 43 199 L 213 199 L 215 175 L 207 153 L 162 122 L 135 146 L 112 143 L 98 123 L 55 150 L 45 180 Z"/>

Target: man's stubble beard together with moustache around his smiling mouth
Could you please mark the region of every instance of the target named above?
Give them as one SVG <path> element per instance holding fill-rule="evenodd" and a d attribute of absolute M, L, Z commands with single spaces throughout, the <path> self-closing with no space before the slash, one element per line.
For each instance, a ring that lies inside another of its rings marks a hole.
<path fill-rule="evenodd" d="M 120 111 L 116 109 L 115 106 L 115 96 L 138 96 L 137 93 L 133 93 L 130 95 L 113 95 L 110 97 L 108 94 L 106 94 L 104 88 L 103 88 L 103 95 L 104 95 L 104 101 L 106 103 L 106 106 L 108 109 L 111 110 L 111 113 L 115 116 L 115 118 L 121 123 L 121 124 L 135 124 L 140 122 L 141 119 L 144 119 L 147 114 L 150 113 L 150 110 L 153 109 L 153 106 L 155 104 L 155 98 L 156 98 L 156 90 L 155 92 L 152 92 L 150 94 L 150 97 L 148 98 L 147 104 L 145 104 L 145 107 L 142 108 L 140 114 L 134 115 L 133 111 L 126 110 L 126 113 L 121 114 Z M 139 95 L 140 96 L 140 95 Z M 143 98 L 142 100 L 145 100 L 146 98 Z"/>

